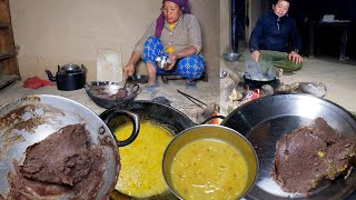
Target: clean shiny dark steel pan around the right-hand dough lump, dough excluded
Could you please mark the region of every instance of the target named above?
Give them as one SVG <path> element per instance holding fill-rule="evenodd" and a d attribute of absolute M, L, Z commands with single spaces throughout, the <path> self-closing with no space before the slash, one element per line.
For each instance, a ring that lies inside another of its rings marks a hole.
<path fill-rule="evenodd" d="M 259 173 L 255 187 L 246 199 L 301 198 L 283 192 L 269 177 L 275 159 L 276 142 L 299 126 L 307 126 L 316 118 L 336 129 L 339 134 L 356 138 L 356 119 L 340 106 L 309 94 L 278 94 L 250 101 L 228 114 L 222 126 L 247 137 L 259 159 Z M 297 167 L 296 167 L 297 168 Z M 310 197 L 301 199 L 344 199 L 356 189 L 356 170 L 348 179 L 328 182 Z"/>

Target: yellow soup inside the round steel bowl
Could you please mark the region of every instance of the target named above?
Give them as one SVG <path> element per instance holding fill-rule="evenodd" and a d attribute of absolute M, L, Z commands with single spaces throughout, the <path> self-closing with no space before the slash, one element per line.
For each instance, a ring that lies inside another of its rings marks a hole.
<path fill-rule="evenodd" d="M 238 199 L 248 182 L 247 161 L 227 142 L 199 139 L 184 146 L 170 168 L 184 199 Z"/>

